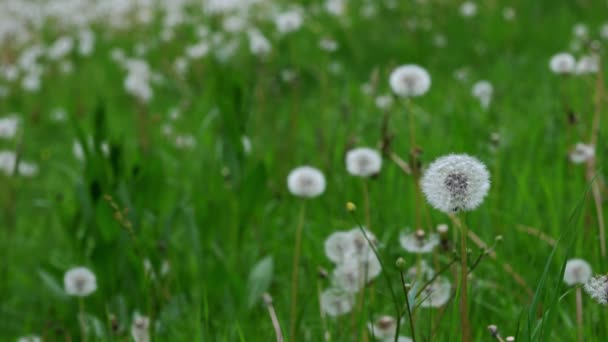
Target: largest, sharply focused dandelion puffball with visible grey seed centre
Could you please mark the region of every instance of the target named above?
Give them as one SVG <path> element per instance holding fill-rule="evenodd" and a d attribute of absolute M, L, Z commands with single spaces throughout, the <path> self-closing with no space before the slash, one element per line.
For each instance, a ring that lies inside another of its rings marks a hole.
<path fill-rule="evenodd" d="M 466 154 L 438 158 L 420 182 L 427 201 L 446 214 L 477 208 L 490 190 L 488 169 Z"/>

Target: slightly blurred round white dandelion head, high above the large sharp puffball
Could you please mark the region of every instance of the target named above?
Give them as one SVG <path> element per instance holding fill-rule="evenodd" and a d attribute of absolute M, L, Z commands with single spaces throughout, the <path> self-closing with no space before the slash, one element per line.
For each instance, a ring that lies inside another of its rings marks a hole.
<path fill-rule="evenodd" d="M 422 96 L 431 87 L 431 76 L 418 65 L 406 64 L 393 70 L 389 83 L 398 96 Z"/>

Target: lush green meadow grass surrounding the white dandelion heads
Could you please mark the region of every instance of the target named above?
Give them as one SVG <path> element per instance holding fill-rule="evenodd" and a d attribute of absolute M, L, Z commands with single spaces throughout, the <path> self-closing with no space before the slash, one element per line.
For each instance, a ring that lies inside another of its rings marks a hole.
<path fill-rule="evenodd" d="M 283 38 L 275 34 L 272 22 L 260 21 L 258 27 L 273 44 L 268 58 L 251 56 L 242 39 L 229 62 L 205 57 L 192 63 L 183 78 L 171 65 L 186 45 L 197 42 L 193 25 L 180 26 L 178 38 L 162 43 L 158 23 L 108 35 L 100 24 L 95 27 L 94 55 L 73 56 L 74 73 L 60 75 L 49 66 L 39 93 L 11 88 L 0 99 L 0 116 L 20 113 L 20 134 L 1 140 L 0 149 L 18 146 L 23 159 L 38 163 L 40 172 L 34 178 L 0 173 L 0 340 L 30 333 L 49 341 L 66 340 L 68 334 L 79 340 L 78 303 L 63 293 L 63 274 L 75 265 L 86 265 L 97 275 L 98 290 L 86 298 L 86 310 L 97 320 L 99 334 L 92 331 L 89 340 L 126 340 L 133 312 L 139 311 L 158 319 L 159 341 L 272 341 L 274 331 L 261 298 L 249 305 L 251 288 L 265 281 L 287 336 L 301 200 L 288 193 L 286 177 L 292 168 L 310 164 L 325 173 L 328 186 L 307 203 L 298 340 L 321 341 L 318 268 L 333 267 L 323 241 L 336 230 L 356 226 L 346 202 L 357 204 L 356 215 L 363 218 L 362 183 L 346 173 L 344 153 L 352 146 L 376 146 L 382 138 L 384 113 L 376 108 L 374 96 L 360 88 L 375 74 L 376 93 L 389 93 L 390 71 L 416 63 L 432 77 L 429 93 L 414 99 L 422 163 L 461 152 L 477 156 L 491 172 L 488 198 L 467 214 L 469 228 L 488 244 L 503 237 L 497 259 L 482 260 L 470 281 L 473 339 L 491 340 L 486 327 L 496 324 L 503 336 L 517 334 L 518 341 L 575 341 L 574 292 L 560 300 L 569 291 L 560 274 L 565 258 L 584 258 L 595 273 L 607 271 L 595 206 L 591 194 L 586 196 L 585 166 L 567 159 L 576 142 L 589 138 L 594 80 L 560 78 L 551 74 L 548 62 L 568 49 L 574 24 L 584 22 L 596 37 L 608 19 L 606 4 L 514 1 L 510 5 L 516 19 L 506 22 L 503 4 L 495 1 L 480 1 L 478 15 L 470 19 L 458 15 L 458 4 L 445 1 L 404 2 L 395 10 L 379 6 L 377 17 L 364 19 L 358 15 L 360 2 L 352 1 L 342 19 L 310 14 L 300 31 Z M 219 20 L 197 18 L 197 24 L 219 26 Z M 432 29 L 409 31 L 406 23 L 412 18 L 429 20 Z M 41 37 L 47 43 L 56 36 L 50 26 Z M 433 46 L 436 33 L 445 35 L 446 47 Z M 322 37 L 335 39 L 338 51 L 321 51 Z M 164 77 L 144 106 L 124 92 L 125 72 L 109 58 L 114 47 L 132 55 L 138 42 L 149 46 L 146 59 Z M 338 74 L 329 71 L 336 62 Z M 464 82 L 453 75 L 462 67 L 470 75 Z M 287 68 L 297 72 L 295 83 L 281 81 Z M 470 95 L 480 79 L 491 81 L 495 89 L 487 111 Z M 567 123 L 564 103 L 578 115 L 576 125 Z M 51 119 L 58 107 L 69 114 L 67 121 Z M 182 113 L 174 122 L 168 116 L 173 107 Z M 605 112 L 595 178 L 604 197 Z M 404 104 L 397 101 L 387 115 L 392 149 L 407 160 Z M 195 147 L 176 148 L 161 132 L 164 123 L 193 135 Z M 493 132 L 501 137 L 495 150 Z M 243 135 L 251 139 L 250 154 L 243 150 Z M 88 136 L 95 147 L 80 162 L 72 155 L 72 144 Z M 101 153 L 102 141 L 110 144 L 109 157 Z M 394 288 L 400 283 L 395 260 L 403 257 L 408 265 L 416 260 L 398 241 L 399 232 L 415 222 L 413 184 L 388 158 L 369 184 L 371 230 L 381 241 L 383 272 Z M 104 195 L 128 208 L 136 240 L 113 218 Z M 429 212 L 433 227 L 450 223 L 444 214 L 430 207 Z M 518 225 L 562 240 L 553 250 L 516 229 Z M 450 229 L 455 229 L 451 223 Z M 477 255 L 477 247 L 469 245 Z M 167 260 L 168 275 L 147 279 L 138 250 L 157 269 Z M 271 271 L 249 280 L 254 266 L 268 257 Z M 448 258 L 436 260 L 443 264 Z M 504 263 L 536 292 L 534 300 L 504 271 Z M 328 280 L 320 281 L 329 287 Z M 458 280 L 451 281 L 456 289 Z M 375 300 L 368 302 L 365 315 L 394 314 L 384 279 L 377 278 L 370 289 Z M 397 297 L 403 294 L 397 292 Z M 583 303 L 586 341 L 605 340 L 606 308 L 586 295 Z M 457 305 L 454 298 L 444 308 L 433 341 L 460 339 Z M 116 316 L 117 334 L 111 333 L 108 313 Z M 438 315 L 436 309 L 418 310 L 419 340 L 429 340 Z M 332 341 L 352 340 L 350 315 L 327 323 Z M 401 331 L 410 335 L 407 322 Z"/>

